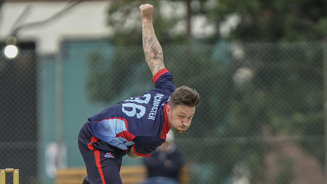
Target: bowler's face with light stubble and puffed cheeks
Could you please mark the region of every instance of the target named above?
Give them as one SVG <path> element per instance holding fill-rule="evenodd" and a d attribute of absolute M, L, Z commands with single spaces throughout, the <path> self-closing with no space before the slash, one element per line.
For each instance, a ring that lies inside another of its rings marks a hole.
<path fill-rule="evenodd" d="M 195 107 L 177 105 L 174 109 L 168 105 L 166 108 L 169 127 L 176 132 L 184 132 L 191 124 Z"/>

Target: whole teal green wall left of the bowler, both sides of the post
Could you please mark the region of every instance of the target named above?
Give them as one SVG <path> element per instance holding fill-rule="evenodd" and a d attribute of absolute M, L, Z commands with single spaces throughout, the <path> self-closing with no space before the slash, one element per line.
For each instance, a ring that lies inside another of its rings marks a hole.
<path fill-rule="evenodd" d="M 98 49 L 110 62 L 112 45 L 106 41 L 66 41 L 62 44 L 62 140 L 67 148 L 67 166 L 85 166 L 77 146 L 77 135 L 88 117 L 100 112 L 110 104 L 91 102 L 87 98 L 87 59 L 90 51 Z M 40 178 L 42 183 L 53 183 L 45 173 L 45 150 L 55 138 L 55 71 L 54 57 L 43 57 L 40 61 Z M 110 64 L 110 63 L 109 63 Z M 126 99 L 129 97 L 126 97 Z M 120 99 L 121 100 L 121 99 Z M 119 100 L 115 101 L 117 103 Z M 140 159 L 124 157 L 123 164 L 140 164 Z"/>

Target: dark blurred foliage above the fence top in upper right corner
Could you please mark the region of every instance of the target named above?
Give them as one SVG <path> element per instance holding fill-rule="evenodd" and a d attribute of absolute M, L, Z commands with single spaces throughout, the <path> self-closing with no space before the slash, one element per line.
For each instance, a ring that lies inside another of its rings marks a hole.
<path fill-rule="evenodd" d="M 207 12 L 218 27 L 230 15 L 241 18 L 231 39 L 245 42 L 294 42 L 321 40 L 327 36 L 325 0 L 219 0 Z"/>

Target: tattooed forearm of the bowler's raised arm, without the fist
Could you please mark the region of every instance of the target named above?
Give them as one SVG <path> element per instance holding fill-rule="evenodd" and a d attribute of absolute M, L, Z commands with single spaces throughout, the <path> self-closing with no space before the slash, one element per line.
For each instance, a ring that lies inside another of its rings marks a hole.
<path fill-rule="evenodd" d="M 154 33 L 152 22 L 142 22 L 143 50 L 146 63 L 149 65 L 154 76 L 163 65 L 163 52 L 159 41 Z"/>

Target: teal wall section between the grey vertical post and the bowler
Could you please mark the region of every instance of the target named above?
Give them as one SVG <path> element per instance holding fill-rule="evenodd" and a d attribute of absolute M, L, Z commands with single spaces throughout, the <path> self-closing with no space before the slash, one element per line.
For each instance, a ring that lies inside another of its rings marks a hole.
<path fill-rule="evenodd" d="M 83 166 L 83 159 L 78 151 L 77 135 L 80 128 L 102 109 L 104 104 L 95 104 L 86 94 L 86 74 L 88 53 L 95 48 L 107 49 L 111 45 L 103 41 L 70 41 L 63 48 L 63 141 L 67 146 L 69 167 Z M 110 62 L 110 61 L 108 61 Z"/>

